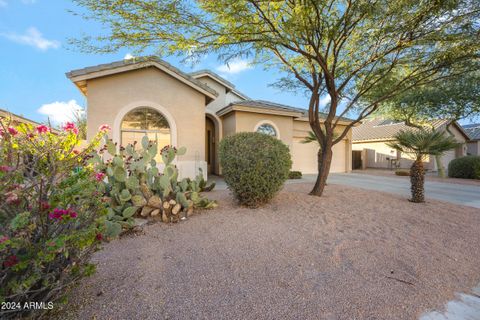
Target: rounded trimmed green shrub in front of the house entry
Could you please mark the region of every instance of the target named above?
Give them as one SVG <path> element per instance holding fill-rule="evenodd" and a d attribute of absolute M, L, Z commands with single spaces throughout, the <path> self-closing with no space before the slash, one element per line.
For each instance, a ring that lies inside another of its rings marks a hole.
<path fill-rule="evenodd" d="M 220 165 L 228 188 L 240 204 L 258 207 L 270 201 L 288 178 L 292 160 L 280 140 L 242 132 L 220 142 Z"/>

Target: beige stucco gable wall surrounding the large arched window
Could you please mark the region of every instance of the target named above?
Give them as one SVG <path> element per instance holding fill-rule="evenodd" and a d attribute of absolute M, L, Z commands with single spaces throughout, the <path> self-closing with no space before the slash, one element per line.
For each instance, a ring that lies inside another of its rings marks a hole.
<path fill-rule="evenodd" d="M 88 133 L 91 139 L 101 124 L 112 127 L 111 137 L 120 142 L 123 115 L 137 107 L 151 107 L 170 123 L 172 144 L 184 146 L 179 170 L 192 176 L 205 169 L 205 96 L 156 68 L 145 68 L 89 80 Z"/>

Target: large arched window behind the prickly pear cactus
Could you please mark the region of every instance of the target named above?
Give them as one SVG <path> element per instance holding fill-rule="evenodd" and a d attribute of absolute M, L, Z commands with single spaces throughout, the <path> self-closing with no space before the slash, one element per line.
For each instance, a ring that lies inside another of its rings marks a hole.
<path fill-rule="evenodd" d="M 157 141 L 158 155 L 155 157 L 157 162 L 161 162 L 160 150 L 171 144 L 170 126 L 167 119 L 158 111 L 141 107 L 127 113 L 122 120 L 121 141 L 123 146 L 134 141 L 142 141 L 143 136 L 147 135 L 152 141 Z"/>

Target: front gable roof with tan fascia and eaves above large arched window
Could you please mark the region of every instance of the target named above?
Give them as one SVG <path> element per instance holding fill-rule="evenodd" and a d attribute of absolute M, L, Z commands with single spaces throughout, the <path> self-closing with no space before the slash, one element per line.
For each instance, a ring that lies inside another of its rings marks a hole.
<path fill-rule="evenodd" d="M 209 99 L 213 100 L 218 96 L 217 92 L 209 86 L 156 57 L 135 58 L 107 64 L 100 64 L 93 67 L 70 71 L 66 74 L 66 76 L 72 82 L 74 82 L 85 95 L 87 95 L 86 82 L 90 79 L 107 77 L 118 73 L 129 72 L 148 67 L 154 67 L 162 72 L 165 72 L 180 82 L 183 82 L 189 87 L 201 92 Z"/>

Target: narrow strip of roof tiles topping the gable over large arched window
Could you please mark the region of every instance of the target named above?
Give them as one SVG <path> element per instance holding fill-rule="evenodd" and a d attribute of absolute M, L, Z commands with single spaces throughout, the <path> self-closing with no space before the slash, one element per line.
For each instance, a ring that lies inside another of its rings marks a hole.
<path fill-rule="evenodd" d="M 84 75 L 88 75 L 88 74 L 94 73 L 94 72 L 112 70 L 112 69 L 116 69 L 116 68 L 132 66 L 132 65 L 138 65 L 139 68 L 148 67 L 148 66 L 151 66 L 154 63 L 157 63 L 157 64 L 163 66 L 164 68 L 172 71 L 173 73 L 175 73 L 178 76 L 184 78 L 188 82 L 190 82 L 190 83 L 202 88 L 203 90 L 209 92 L 210 94 L 212 94 L 214 96 L 218 96 L 218 93 L 215 90 L 213 90 L 212 88 L 210 88 L 209 86 L 203 84 L 201 81 L 195 79 L 191 75 L 181 71 L 180 69 L 172 66 L 168 62 L 163 61 L 162 59 L 160 59 L 158 57 L 155 57 L 155 56 L 138 57 L 138 58 L 134 58 L 134 59 L 126 59 L 126 60 L 115 61 L 115 62 L 111 62 L 111 63 L 100 64 L 100 65 L 97 65 L 97 66 L 72 70 L 70 72 L 67 72 L 66 75 L 69 79 L 72 79 L 74 77 L 84 76 Z"/>

